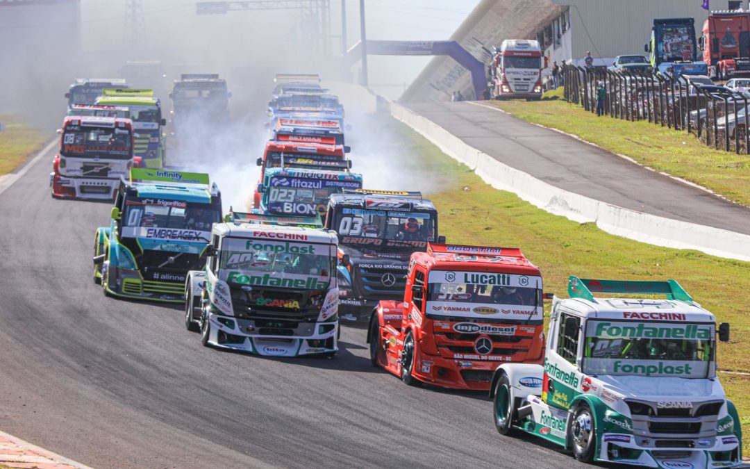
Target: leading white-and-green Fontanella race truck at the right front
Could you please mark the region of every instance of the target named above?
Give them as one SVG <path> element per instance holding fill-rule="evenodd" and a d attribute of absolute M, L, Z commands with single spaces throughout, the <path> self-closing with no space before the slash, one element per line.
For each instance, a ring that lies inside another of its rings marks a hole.
<path fill-rule="evenodd" d="M 553 298 L 544 365 L 503 363 L 493 376 L 500 434 L 525 431 L 586 462 L 742 464 L 739 416 L 716 375 L 713 314 L 673 280 L 571 276 L 568 295 Z M 718 339 L 729 340 L 728 323 Z"/>

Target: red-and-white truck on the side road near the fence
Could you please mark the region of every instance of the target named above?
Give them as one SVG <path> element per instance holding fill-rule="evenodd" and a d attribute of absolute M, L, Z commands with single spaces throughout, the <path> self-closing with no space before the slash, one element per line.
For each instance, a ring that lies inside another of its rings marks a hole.
<path fill-rule="evenodd" d="M 540 100 L 544 68 L 547 68 L 547 57 L 542 56 L 539 41 L 505 39 L 499 50 L 492 48 L 492 98 Z"/>

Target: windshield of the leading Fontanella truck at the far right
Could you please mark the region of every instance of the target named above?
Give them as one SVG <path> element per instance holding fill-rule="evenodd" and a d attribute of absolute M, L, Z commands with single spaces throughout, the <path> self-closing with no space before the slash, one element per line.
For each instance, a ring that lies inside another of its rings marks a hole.
<path fill-rule="evenodd" d="M 583 373 L 705 378 L 714 347 L 713 324 L 589 320 Z"/>

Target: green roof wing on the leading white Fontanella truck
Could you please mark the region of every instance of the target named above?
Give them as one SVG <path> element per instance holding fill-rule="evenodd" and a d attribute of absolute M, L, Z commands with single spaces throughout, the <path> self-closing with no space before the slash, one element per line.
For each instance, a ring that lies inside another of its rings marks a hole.
<path fill-rule="evenodd" d="M 640 295 L 666 295 L 667 299 L 676 299 L 693 304 L 693 299 L 679 284 L 669 279 L 667 281 L 634 281 L 634 280 L 600 280 L 595 278 L 578 278 L 571 275 L 568 278 L 568 295 L 571 298 L 588 299 L 596 302 L 592 293 L 630 293 Z"/>

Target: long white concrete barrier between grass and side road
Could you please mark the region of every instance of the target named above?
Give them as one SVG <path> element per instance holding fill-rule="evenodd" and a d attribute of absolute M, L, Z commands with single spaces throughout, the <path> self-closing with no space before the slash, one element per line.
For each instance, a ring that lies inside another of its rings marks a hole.
<path fill-rule="evenodd" d="M 493 188 L 513 192 L 547 212 L 579 223 L 594 222 L 607 233 L 652 245 L 694 249 L 713 256 L 750 261 L 748 235 L 636 212 L 564 191 L 502 164 L 400 104 L 391 103 L 390 110 L 395 119 L 422 134 L 446 155 L 466 164 Z"/>

